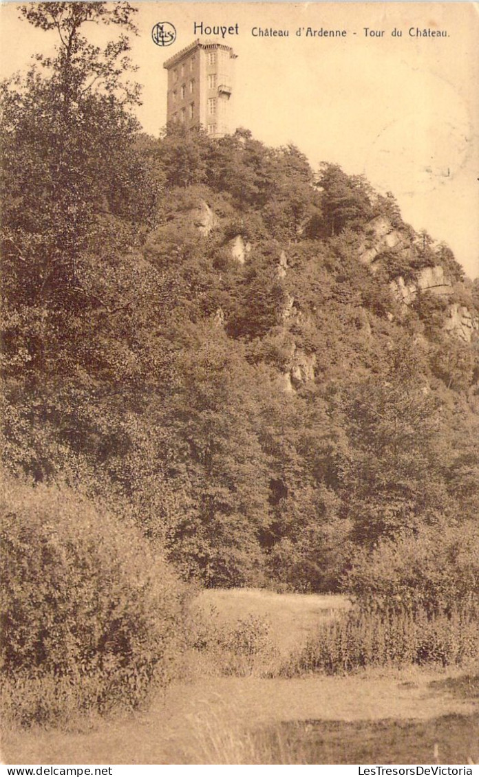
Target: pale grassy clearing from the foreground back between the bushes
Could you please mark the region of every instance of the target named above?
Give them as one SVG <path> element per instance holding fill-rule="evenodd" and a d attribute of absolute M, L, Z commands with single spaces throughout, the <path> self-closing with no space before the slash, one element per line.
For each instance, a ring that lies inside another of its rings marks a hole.
<path fill-rule="evenodd" d="M 192 651 L 195 663 L 190 679 L 173 682 L 150 709 L 130 717 L 84 719 L 82 727 L 76 722 L 77 729 L 70 732 L 7 730 L 4 760 L 158 765 L 431 763 L 436 744 L 442 763 L 479 760 L 474 750 L 474 737 L 479 734 L 477 667 L 468 676 L 458 668 L 436 665 L 369 667 L 348 676 L 271 677 L 264 664 L 255 663 L 261 654 L 248 653 L 251 646 L 261 644 L 261 639 L 254 642 L 257 632 L 245 632 L 244 626 L 238 631 L 238 624 L 254 625 L 257 618 L 264 625 L 267 619 L 267 637 L 278 650 L 278 666 L 289 650 L 304 648 L 318 625 L 341 619 L 341 612 L 349 608 L 345 598 L 204 591 L 198 607 L 203 623 L 212 617 L 209 633 L 219 624 L 222 636 L 216 643 L 218 654 Z M 229 653 L 225 639 L 236 640 L 236 653 L 239 646 L 246 651 L 243 676 L 212 669 L 215 656 L 225 659 Z M 248 664 L 251 657 L 253 664 Z"/>

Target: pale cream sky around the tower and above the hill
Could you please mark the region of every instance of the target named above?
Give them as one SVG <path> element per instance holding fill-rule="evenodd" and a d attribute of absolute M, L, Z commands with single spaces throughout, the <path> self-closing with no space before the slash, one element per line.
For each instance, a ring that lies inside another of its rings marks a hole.
<path fill-rule="evenodd" d="M 239 34 L 224 39 L 238 54 L 236 125 L 267 145 L 294 143 L 315 169 L 337 162 L 391 190 L 406 221 L 446 240 L 467 275 L 479 276 L 479 4 L 141 2 L 138 9 L 132 59 L 144 86 L 145 131 L 157 135 L 165 123 L 163 61 L 195 37 L 212 37 L 195 34 L 194 23 L 237 24 Z M 47 51 L 54 33 L 19 21 L 13 4 L 0 12 L 1 72 L 10 75 Z M 163 21 L 177 28 L 169 47 L 151 37 Z M 255 37 L 258 27 L 289 36 Z M 306 37 L 308 27 L 347 35 Z M 391 35 L 394 28 L 402 37 Z M 411 28 L 447 37 L 413 37 Z M 106 28 L 105 40 L 114 31 Z"/>

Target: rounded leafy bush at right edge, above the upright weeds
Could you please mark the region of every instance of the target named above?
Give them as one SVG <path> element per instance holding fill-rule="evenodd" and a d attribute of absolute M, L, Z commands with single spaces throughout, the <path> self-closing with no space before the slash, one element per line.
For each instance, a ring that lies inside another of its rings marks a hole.
<path fill-rule="evenodd" d="M 479 527 L 423 527 L 358 552 L 344 580 L 363 611 L 462 611 L 478 615 Z"/>

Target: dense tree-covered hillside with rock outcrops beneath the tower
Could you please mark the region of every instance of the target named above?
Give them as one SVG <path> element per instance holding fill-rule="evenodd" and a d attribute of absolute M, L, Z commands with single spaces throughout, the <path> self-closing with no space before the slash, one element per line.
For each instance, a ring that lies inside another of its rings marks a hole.
<path fill-rule="evenodd" d="M 449 249 L 294 147 L 175 129 L 130 143 L 149 221 L 121 212 L 116 184 L 103 209 L 90 187 L 84 234 L 65 217 L 75 246 L 7 168 L 9 468 L 126 510 L 207 586 L 330 591 L 357 547 L 463 535 L 479 513 L 477 284 Z M 378 223 L 398 245 L 372 267 Z M 440 294 L 398 298 L 391 279 L 431 267 Z"/>

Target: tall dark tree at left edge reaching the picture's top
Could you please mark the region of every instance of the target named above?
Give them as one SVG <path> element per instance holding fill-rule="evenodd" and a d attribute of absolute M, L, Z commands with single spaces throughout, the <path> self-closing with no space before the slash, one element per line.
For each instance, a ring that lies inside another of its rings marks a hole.
<path fill-rule="evenodd" d="M 26 78 L 2 85 L 3 359 L 6 403 L 15 406 L 6 444 L 26 442 L 37 426 L 70 430 L 41 452 L 30 436 L 25 465 L 41 477 L 59 445 L 66 451 L 82 437 L 78 413 L 93 423 L 92 400 L 110 395 L 120 375 L 128 384 L 138 267 L 125 252 L 151 224 L 159 187 L 136 146 L 138 88 L 123 78 L 128 39 L 102 50 L 82 34 L 87 23 L 133 32 L 135 9 L 76 2 L 22 12 L 59 40 L 53 57 L 36 57 Z"/>

